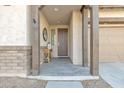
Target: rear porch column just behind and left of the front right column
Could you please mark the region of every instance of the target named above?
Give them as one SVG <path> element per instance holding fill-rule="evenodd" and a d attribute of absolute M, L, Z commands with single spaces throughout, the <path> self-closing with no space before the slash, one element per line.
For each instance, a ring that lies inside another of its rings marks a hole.
<path fill-rule="evenodd" d="M 82 61 L 83 66 L 88 66 L 88 6 L 82 6 Z"/>

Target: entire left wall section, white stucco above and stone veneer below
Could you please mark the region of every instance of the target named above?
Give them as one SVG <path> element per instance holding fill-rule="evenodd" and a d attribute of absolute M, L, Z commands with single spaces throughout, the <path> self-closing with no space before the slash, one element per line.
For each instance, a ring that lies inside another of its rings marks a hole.
<path fill-rule="evenodd" d="M 0 75 L 30 74 L 31 7 L 0 6 Z"/>

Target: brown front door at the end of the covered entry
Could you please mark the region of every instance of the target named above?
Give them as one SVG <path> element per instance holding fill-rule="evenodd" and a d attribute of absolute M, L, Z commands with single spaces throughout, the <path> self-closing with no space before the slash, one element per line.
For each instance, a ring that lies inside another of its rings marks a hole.
<path fill-rule="evenodd" d="M 58 56 L 68 56 L 68 29 L 58 29 Z"/>

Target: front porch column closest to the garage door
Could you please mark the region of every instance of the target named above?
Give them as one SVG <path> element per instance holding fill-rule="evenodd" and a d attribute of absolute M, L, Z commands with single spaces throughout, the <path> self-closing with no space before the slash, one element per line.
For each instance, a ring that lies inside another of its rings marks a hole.
<path fill-rule="evenodd" d="M 90 7 L 90 73 L 99 75 L 99 7 Z"/>

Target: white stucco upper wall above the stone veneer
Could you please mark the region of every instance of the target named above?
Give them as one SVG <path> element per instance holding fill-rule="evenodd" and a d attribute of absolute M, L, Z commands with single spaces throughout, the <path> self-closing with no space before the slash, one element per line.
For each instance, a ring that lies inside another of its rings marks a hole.
<path fill-rule="evenodd" d="M 27 6 L 0 6 L 0 45 L 29 45 Z"/>

